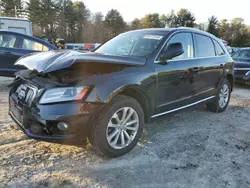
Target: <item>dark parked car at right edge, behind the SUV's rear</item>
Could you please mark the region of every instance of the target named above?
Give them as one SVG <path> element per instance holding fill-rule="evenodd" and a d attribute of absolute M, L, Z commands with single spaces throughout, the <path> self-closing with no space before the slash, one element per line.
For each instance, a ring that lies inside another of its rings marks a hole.
<path fill-rule="evenodd" d="M 241 48 L 232 55 L 236 83 L 250 81 L 250 48 Z"/>

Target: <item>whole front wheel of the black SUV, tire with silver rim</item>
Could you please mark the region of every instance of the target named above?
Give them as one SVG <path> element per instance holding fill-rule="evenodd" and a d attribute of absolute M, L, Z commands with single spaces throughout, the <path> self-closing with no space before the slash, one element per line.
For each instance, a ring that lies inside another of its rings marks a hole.
<path fill-rule="evenodd" d="M 118 95 L 96 117 L 89 140 L 97 153 L 119 157 L 136 146 L 143 127 L 141 105 L 131 97 Z"/>

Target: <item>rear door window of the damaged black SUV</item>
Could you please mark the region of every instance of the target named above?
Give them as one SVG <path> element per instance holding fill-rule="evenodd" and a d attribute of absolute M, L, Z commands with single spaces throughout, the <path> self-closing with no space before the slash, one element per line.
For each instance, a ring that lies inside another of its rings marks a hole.
<path fill-rule="evenodd" d="M 215 49 L 210 37 L 194 34 L 196 44 L 196 57 L 213 57 Z"/>

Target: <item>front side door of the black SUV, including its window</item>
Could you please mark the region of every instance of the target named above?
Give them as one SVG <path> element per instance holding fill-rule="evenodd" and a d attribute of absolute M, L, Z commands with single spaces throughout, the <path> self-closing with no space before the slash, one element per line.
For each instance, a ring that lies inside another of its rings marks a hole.
<path fill-rule="evenodd" d="M 156 114 L 173 110 L 193 102 L 196 63 L 194 42 L 191 33 L 173 35 L 164 48 L 171 43 L 181 43 L 184 53 L 162 64 L 157 59 L 155 67 L 158 72 L 158 91 L 156 97 Z M 163 49 L 164 50 L 164 49 Z M 160 53 L 159 57 L 163 52 Z"/>

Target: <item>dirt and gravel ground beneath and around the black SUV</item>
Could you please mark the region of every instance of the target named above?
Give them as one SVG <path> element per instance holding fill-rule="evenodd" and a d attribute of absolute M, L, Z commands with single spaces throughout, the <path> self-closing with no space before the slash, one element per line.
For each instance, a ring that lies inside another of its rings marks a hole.
<path fill-rule="evenodd" d="M 249 89 L 237 87 L 224 113 L 199 105 L 148 123 L 117 159 L 28 139 L 0 92 L 0 187 L 250 187 Z"/>

